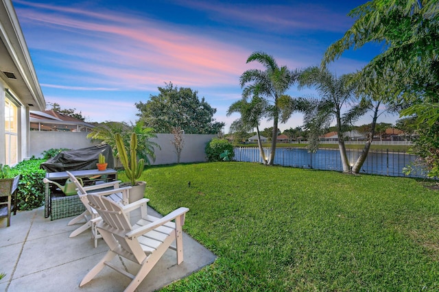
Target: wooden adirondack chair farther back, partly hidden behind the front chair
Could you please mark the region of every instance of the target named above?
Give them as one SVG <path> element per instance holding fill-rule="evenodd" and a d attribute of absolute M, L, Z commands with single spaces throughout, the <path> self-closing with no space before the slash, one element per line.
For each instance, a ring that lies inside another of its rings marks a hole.
<path fill-rule="evenodd" d="M 78 215 L 78 217 L 73 218 L 67 226 L 76 224 L 82 220 L 85 219 L 84 225 L 80 226 L 80 228 L 76 229 L 75 231 L 71 232 L 69 237 L 77 236 L 78 234 L 81 234 L 85 230 L 88 230 L 88 228 L 91 228 L 91 237 L 95 241 L 95 247 L 97 247 L 97 239 L 102 239 L 102 236 L 99 234 L 99 231 L 97 230 L 96 221 L 93 221 L 93 219 L 96 219 L 99 217 L 99 214 L 97 214 L 97 211 L 88 204 L 88 193 L 95 193 L 96 195 L 104 195 L 110 197 L 115 202 L 120 202 L 123 205 L 128 205 L 128 197 L 129 197 L 129 191 L 131 186 L 126 186 L 123 188 L 119 188 L 119 182 L 120 180 L 116 182 L 107 182 L 104 184 L 95 184 L 94 186 L 82 186 L 80 184 L 79 180 L 75 177 L 75 175 L 71 174 L 71 172 L 66 171 L 67 175 L 69 175 L 69 178 L 72 182 L 75 183 L 76 188 L 78 189 L 78 196 L 80 197 L 80 200 L 82 204 L 84 204 L 86 210 L 82 212 L 81 215 Z"/>

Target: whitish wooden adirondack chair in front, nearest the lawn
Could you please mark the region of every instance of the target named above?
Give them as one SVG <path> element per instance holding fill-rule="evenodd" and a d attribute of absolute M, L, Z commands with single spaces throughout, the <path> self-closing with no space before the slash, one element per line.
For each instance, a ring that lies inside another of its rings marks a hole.
<path fill-rule="evenodd" d="M 123 206 L 107 197 L 93 193 L 88 194 L 87 197 L 91 206 L 97 210 L 103 219 L 97 224 L 97 229 L 102 234 L 110 250 L 86 274 L 80 283 L 80 287 L 90 282 L 107 265 L 131 278 L 132 281 L 125 291 L 134 291 L 168 248 L 176 250 L 177 264 L 182 263 L 182 226 L 185 223 L 188 208 L 178 208 L 163 218 L 157 218 L 147 215 L 147 202 L 149 202 L 149 199 L 140 199 L 137 202 Z M 137 208 L 141 208 L 142 219 L 132 225 L 128 215 Z M 171 246 L 174 241 L 176 241 L 176 247 Z M 139 264 L 141 267 L 137 274 L 132 275 L 128 271 L 112 265 L 110 260 L 117 255 Z"/>

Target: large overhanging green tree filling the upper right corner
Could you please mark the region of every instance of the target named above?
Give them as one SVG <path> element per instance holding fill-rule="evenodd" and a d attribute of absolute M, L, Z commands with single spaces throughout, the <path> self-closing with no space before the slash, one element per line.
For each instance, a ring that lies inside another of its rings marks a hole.
<path fill-rule="evenodd" d="M 355 23 L 326 51 L 322 65 L 348 49 L 369 42 L 384 43 L 384 51 L 361 70 L 361 82 L 372 87 L 386 80 L 388 98 L 412 104 L 402 116 L 416 116 L 418 125 L 439 123 L 439 3 L 437 0 L 372 0 L 352 10 Z M 419 128 L 422 148 L 435 149 L 439 132 Z M 425 134 L 425 137 L 422 135 Z M 436 135 L 436 136 L 435 136 Z M 431 143 L 429 147 L 427 144 Z M 437 149 L 437 148 L 436 148 Z M 426 160 L 439 161 L 435 151 L 420 151 Z M 430 164 L 431 165 L 431 164 Z M 431 167 L 439 168 L 438 165 Z"/>

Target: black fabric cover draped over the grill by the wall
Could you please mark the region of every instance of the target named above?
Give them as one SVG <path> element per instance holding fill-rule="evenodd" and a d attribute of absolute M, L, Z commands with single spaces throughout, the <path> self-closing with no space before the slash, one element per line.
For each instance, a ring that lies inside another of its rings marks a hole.
<path fill-rule="evenodd" d="M 61 151 L 57 156 L 41 163 L 40 168 L 47 172 L 62 172 L 75 170 L 97 169 L 96 163 L 99 154 L 105 156 L 107 168 L 114 167 L 112 150 L 108 144 L 99 144 L 92 147 Z"/>

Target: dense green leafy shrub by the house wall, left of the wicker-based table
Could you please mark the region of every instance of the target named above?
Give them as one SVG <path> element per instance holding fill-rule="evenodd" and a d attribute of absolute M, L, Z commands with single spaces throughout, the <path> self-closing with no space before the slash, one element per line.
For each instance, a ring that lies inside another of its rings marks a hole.
<path fill-rule="evenodd" d="M 20 174 L 19 191 L 16 195 L 18 210 L 32 210 L 43 206 L 45 199 L 45 188 L 43 178 L 46 171 L 40 169 L 44 159 L 32 159 L 20 162 L 12 167 L 13 175 Z"/>

